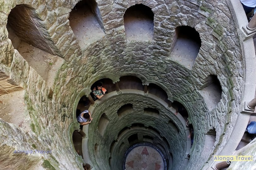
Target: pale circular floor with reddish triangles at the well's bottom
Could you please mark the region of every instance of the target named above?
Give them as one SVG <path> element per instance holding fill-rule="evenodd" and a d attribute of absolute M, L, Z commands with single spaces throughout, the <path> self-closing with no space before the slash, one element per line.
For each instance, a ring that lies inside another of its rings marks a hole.
<path fill-rule="evenodd" d="M 125 170 L 165 170 L 163 155 L 148 144 L 131 147 L 126 152 Z"/>

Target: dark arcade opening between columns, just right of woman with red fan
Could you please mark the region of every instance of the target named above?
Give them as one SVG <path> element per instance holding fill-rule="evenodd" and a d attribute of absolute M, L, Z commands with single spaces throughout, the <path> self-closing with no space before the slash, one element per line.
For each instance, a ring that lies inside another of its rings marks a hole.
<path fill-rule="evenodd" d="M 137 89 L 143 90 L 142 81 L 140 78 L 135 76 L 122 76 L 119 78 L 119 88 L 120 89 Z"/>

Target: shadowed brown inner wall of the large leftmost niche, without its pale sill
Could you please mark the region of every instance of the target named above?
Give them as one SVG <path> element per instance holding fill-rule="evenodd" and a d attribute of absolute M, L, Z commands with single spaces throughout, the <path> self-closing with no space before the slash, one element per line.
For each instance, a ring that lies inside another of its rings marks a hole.
<path fill-rule="evenodd" d="M 17 5 L 8 15 L 7 30 L 15 49 L 21 41 L 38 47 L 51 54 L 55 54 L 43 35 L 40 19 L 36 18 L 35 11 L 28 5 Z"/>

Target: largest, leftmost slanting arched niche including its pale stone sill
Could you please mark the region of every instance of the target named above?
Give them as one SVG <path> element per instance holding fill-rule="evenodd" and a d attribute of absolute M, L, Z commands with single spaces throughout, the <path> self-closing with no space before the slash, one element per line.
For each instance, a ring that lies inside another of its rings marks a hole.
<path fill-rule="evenodd" d="M 52 86 L 58 68 L 64 59 L 58 57 L 54 43 L 45 35 L 41 20 L 27 5 L 17 5 L 8 15 L 6 28 L 13 47 L 34 68 L 37 73 Z"/>

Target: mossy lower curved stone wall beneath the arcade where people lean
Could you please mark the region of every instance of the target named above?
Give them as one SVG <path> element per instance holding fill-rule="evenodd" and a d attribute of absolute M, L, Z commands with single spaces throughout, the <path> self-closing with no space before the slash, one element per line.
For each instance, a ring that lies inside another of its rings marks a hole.
<path fill-rule="evenodd" d="M 116 93 L 116 92 L 112 92 Z M 109 95 L 109 94 L 108 94 Z M 111 95 L 111 94 L 110 94 Z M 108 96 L 106 96 L 107 98 Z M 103 113 L 107 116 L 109 122 L 106 125 L 104 135 L 99 133 L 98 124 L 91 124 L 88 129 L 88 151 L 90 154 L 91 161 L 94 165 L 105 169 L 120 169 L 122 167 L 122 161 L 126 149 L 130 147 L 127 143 L 127 138 L 135 133 L 147 135 L 147 132 L 141 132 L 140 130 L 133 130 L 133 132 L 128 131 L 129 135 L 125 133 L 126 137 L 120 139 L 119 133 L 125 127 L 133 126 L 133 124 L 143 124 L 145 127 L 153 127 L 158 130 L 158 139 L 161 141 L 161 137 L 165 137 L 169 142 L 165 148 L 169 148 L 170 152 L 176 157 L 173 158 L 173 169 L 178 169 L 184 160 L 186 153 L 186 133 L 185 128 L 182 122 L 175 116 L 171 110 L 163 107 L 161 100 L 154 97 L 154 100 L 148 97 L 143 96 L 142 91 L 130 90 L 130 93 L 122 93 L 117 96 L 108 98 L 104 102 L 97 104 L 95 109 L 93 109 L 92 114 L 94 115 L 94 120 L 97 123 L 100 123 L 100 118 Z M 162 101 L 162 103 L 165 103 Z M 124 104 L 132 104 L 132 112 L 127 112 L 122 117 L 118 116 L 118 110 Z M 166 105 L 166 104 L 165 104 Z M 151 115 L 144 114 L 144 108 L 153 107 L 159 110 L 159 118 L 153 117 Z M 169 121 L 175 122 L 176 128 L 168 125 Z M 150 128 L 148 128 L 150 129 Z M 178 129 L 178 133 L 176 132 Z M 151 130 L 148 130 L 151 131 Z M 151 132 L 152 133 L 152 132 Z M 115 151 L 110 154 L 111 144 L 113 141 L 117 140 L 116 146 L 113 148 Z M 124 150 L 118 150 L 121 143 L 125 143 Z M 138 142 L 143 142 L 140 139 Z M 96 153 L 94 151 L 95 144 L 98 144 L 100 156 L 95 157 Z M 169 145 L 169 146 L 168 146 Z M 170 147 L 172 146 L 172 147 Z M 189 146 L 190 147 L 190 146 Z M 168 156 L 168 154 L 167 154 Z M 111 157 L 113 162 L 113 167 L 109 167 L 108 158 Z M 167 158 L 167 157 L 166 157 Z"/>

